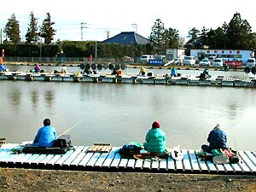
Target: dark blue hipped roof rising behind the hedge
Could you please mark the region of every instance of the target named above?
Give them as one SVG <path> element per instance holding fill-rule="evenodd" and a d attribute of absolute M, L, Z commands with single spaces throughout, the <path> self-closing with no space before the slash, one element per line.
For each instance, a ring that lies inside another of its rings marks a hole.
<path fill-rule="evenodd" d="M 137 34 L 136 32 L 121 32 L 113 38 L 102 41 L 104 44 L 149 44 L 148 38 Z"/>

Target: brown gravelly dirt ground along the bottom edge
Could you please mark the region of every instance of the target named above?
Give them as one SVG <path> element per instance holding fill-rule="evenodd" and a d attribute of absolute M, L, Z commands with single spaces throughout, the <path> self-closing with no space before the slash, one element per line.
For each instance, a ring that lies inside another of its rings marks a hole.
<path fill-rule="evenodd" d="M 0 191 L 256 191 L 256 176 L 0 168 Z"/>

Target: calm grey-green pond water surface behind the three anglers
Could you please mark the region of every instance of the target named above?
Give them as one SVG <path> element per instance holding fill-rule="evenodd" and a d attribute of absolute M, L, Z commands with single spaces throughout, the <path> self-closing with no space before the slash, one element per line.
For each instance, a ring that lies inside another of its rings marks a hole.
<path fill-rule="evenodd" d="M 69 71 L 77 69 L 70 67 Z M 212 76 L 222 73 L 212 71 Z M 177 144 L 201 148 L 208 132 L 219 123 L 231 147 L 255 150 L 256 89 L 23 81 L 0 81 L 0 87 L 0 137 L 7 137 L 9 143 L 32 140 L 45 118 L 52 120 L 59 134 L 76 125 L 67 132 L 74 145 L 143 143 L 152 121 L 159 120 L 170 148 Z"/>

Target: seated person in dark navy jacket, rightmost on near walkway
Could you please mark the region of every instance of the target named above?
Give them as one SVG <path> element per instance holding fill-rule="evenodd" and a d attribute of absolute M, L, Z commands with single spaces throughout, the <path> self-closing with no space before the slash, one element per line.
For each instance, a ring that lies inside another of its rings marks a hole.
<path fill-rule="evenodd" d="M 224 131 L 219 129 L 219 124 L 215 125 L 208 135 L 207 142 L 209 145 L 203 144 L 201 149 L 212 154 L 212 149 L 227 148 L 227 136 Z"/>

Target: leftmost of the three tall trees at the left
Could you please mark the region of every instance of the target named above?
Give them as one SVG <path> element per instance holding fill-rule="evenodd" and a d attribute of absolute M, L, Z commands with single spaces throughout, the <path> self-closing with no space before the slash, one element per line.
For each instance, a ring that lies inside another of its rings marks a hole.
<path fill-rule="evenodd" d="M 16 20 L 15 14 L 11 15 L 8 19 L 4 32 L 10 42 L 15 44 L 20 42 L 20 24 L 19 21 Z"/>

